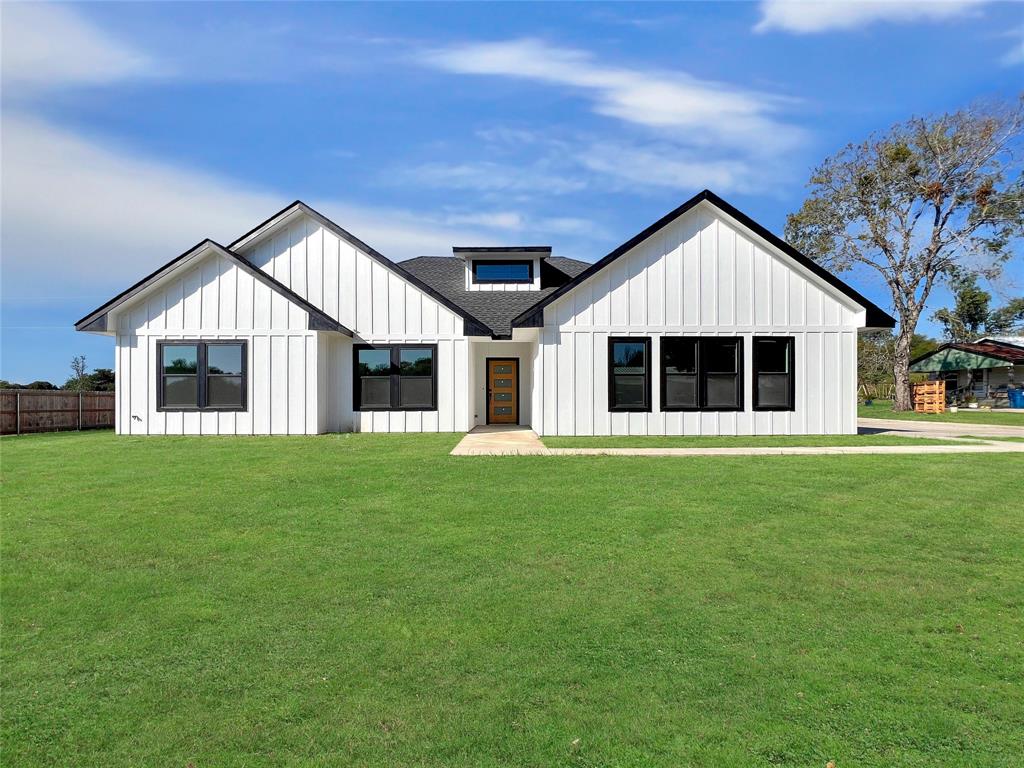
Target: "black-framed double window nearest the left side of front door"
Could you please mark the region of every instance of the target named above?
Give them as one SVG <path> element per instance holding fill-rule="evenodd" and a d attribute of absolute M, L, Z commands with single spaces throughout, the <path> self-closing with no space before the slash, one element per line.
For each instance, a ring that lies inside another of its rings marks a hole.
<path fill-rule="evenodd" d="M 359 345 L 354 350 L 356 411 L 435 411 L 436 345 Z"/>

